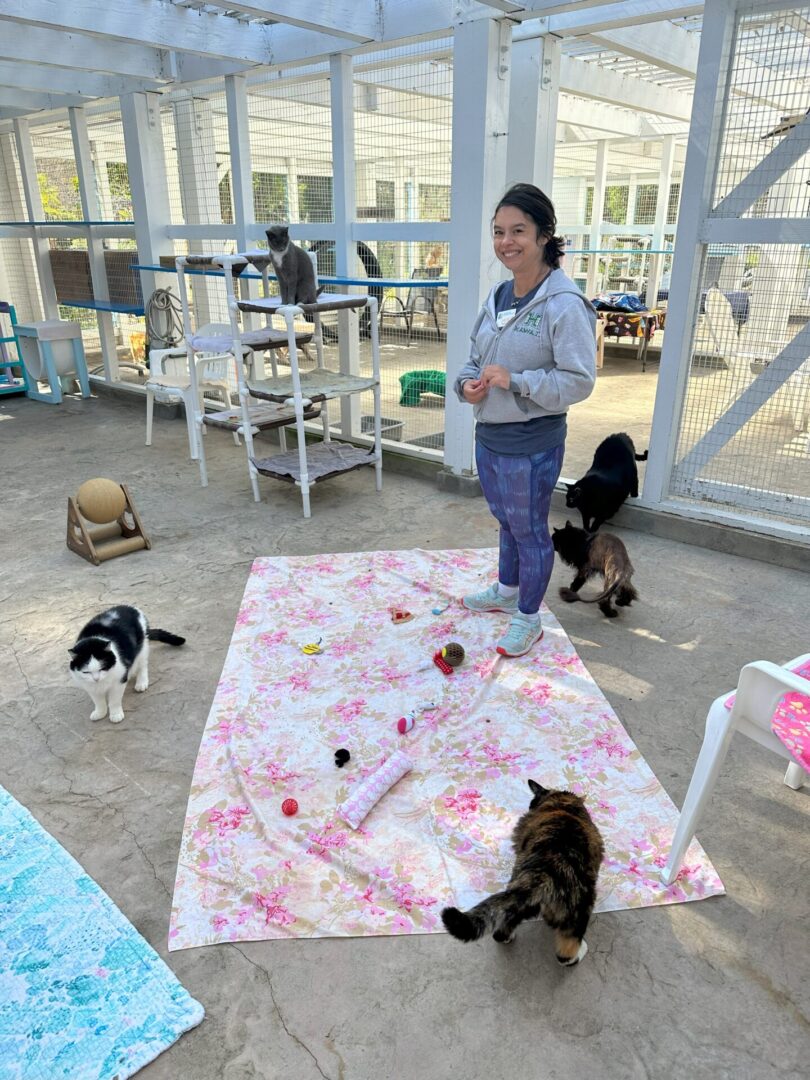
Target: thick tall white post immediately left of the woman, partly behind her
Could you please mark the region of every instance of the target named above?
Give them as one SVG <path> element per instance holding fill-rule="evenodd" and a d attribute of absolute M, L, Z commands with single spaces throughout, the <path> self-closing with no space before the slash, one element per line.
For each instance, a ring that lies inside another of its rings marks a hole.
<path fill-rule="evenodd" d="M 470 330 L 497 279 L 490 220 L 507 180 L 511 26 L 480 19 L 457 26 L 453 63 L 450 274 L 447 299 L 445 469 L 473 475 L 473 413 L 453 391 L 470 355 Z"/>

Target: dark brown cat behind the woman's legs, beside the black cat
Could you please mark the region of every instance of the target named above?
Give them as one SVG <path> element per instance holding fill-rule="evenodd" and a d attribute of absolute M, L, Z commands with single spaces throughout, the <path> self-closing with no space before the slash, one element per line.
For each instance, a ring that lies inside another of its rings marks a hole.
<path fill-rule="evenodd" d="M 616 619 L 619 612 L 611 603 L 613 598 L 619 607 L 629 607 L 633 600 L 638 599 L 638 593 L 631 582 L 633 564 L 619 537 L 612 532 L 585 532 L 566 522 L 564 529 L 554 529 L 551 539 L 554 551 L 563 562 L 577 570 L 570 588 L 559 590 L 559 595 L 567 604 L 573 604 L 575 600 L 598 604 L 604 616 Z M 596 573 L 603 577 L 603 591 L 592 599 L 583 599 L 578 592 Z"/>

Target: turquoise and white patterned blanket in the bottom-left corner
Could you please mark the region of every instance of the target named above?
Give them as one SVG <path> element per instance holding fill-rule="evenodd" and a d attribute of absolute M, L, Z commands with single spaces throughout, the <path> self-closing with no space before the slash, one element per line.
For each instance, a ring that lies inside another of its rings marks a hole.
<path fill-rule="evenodd" d="M 0 1077 L 123 1080 L 203 1008 L 0 787 Z"/>

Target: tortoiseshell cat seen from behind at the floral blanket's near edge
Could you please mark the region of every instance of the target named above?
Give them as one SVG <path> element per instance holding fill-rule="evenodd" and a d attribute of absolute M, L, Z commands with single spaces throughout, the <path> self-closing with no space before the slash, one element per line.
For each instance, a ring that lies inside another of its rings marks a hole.
<path fill-rule="evenodd" d="M 573 967 L 588 953 L 584 933 L 605 849 L 579 795 L 552 792 L 534 780 L 529 787 L 529 809 L 512 834 L 509 885 L 469 912 L 445 907 L 442 921 L 459 941 L 477 941 L 491 930 L 495 941 L 505 944 L 525 919 L 539 915 L 554 930 L 557 960 Z"/>

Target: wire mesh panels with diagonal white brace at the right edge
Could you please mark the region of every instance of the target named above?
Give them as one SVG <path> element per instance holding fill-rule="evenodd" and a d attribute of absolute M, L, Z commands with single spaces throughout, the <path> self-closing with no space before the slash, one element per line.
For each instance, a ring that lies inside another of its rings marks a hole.
<path fill-rule="evenodd" d="M 783 144 L 807 106 L 808 16 L 739 14 L 712 217 L 807 217 L 810 157 Z M 807 522 L 810 245 L 706 245 L 698 300 L 671 491 Z"/>

